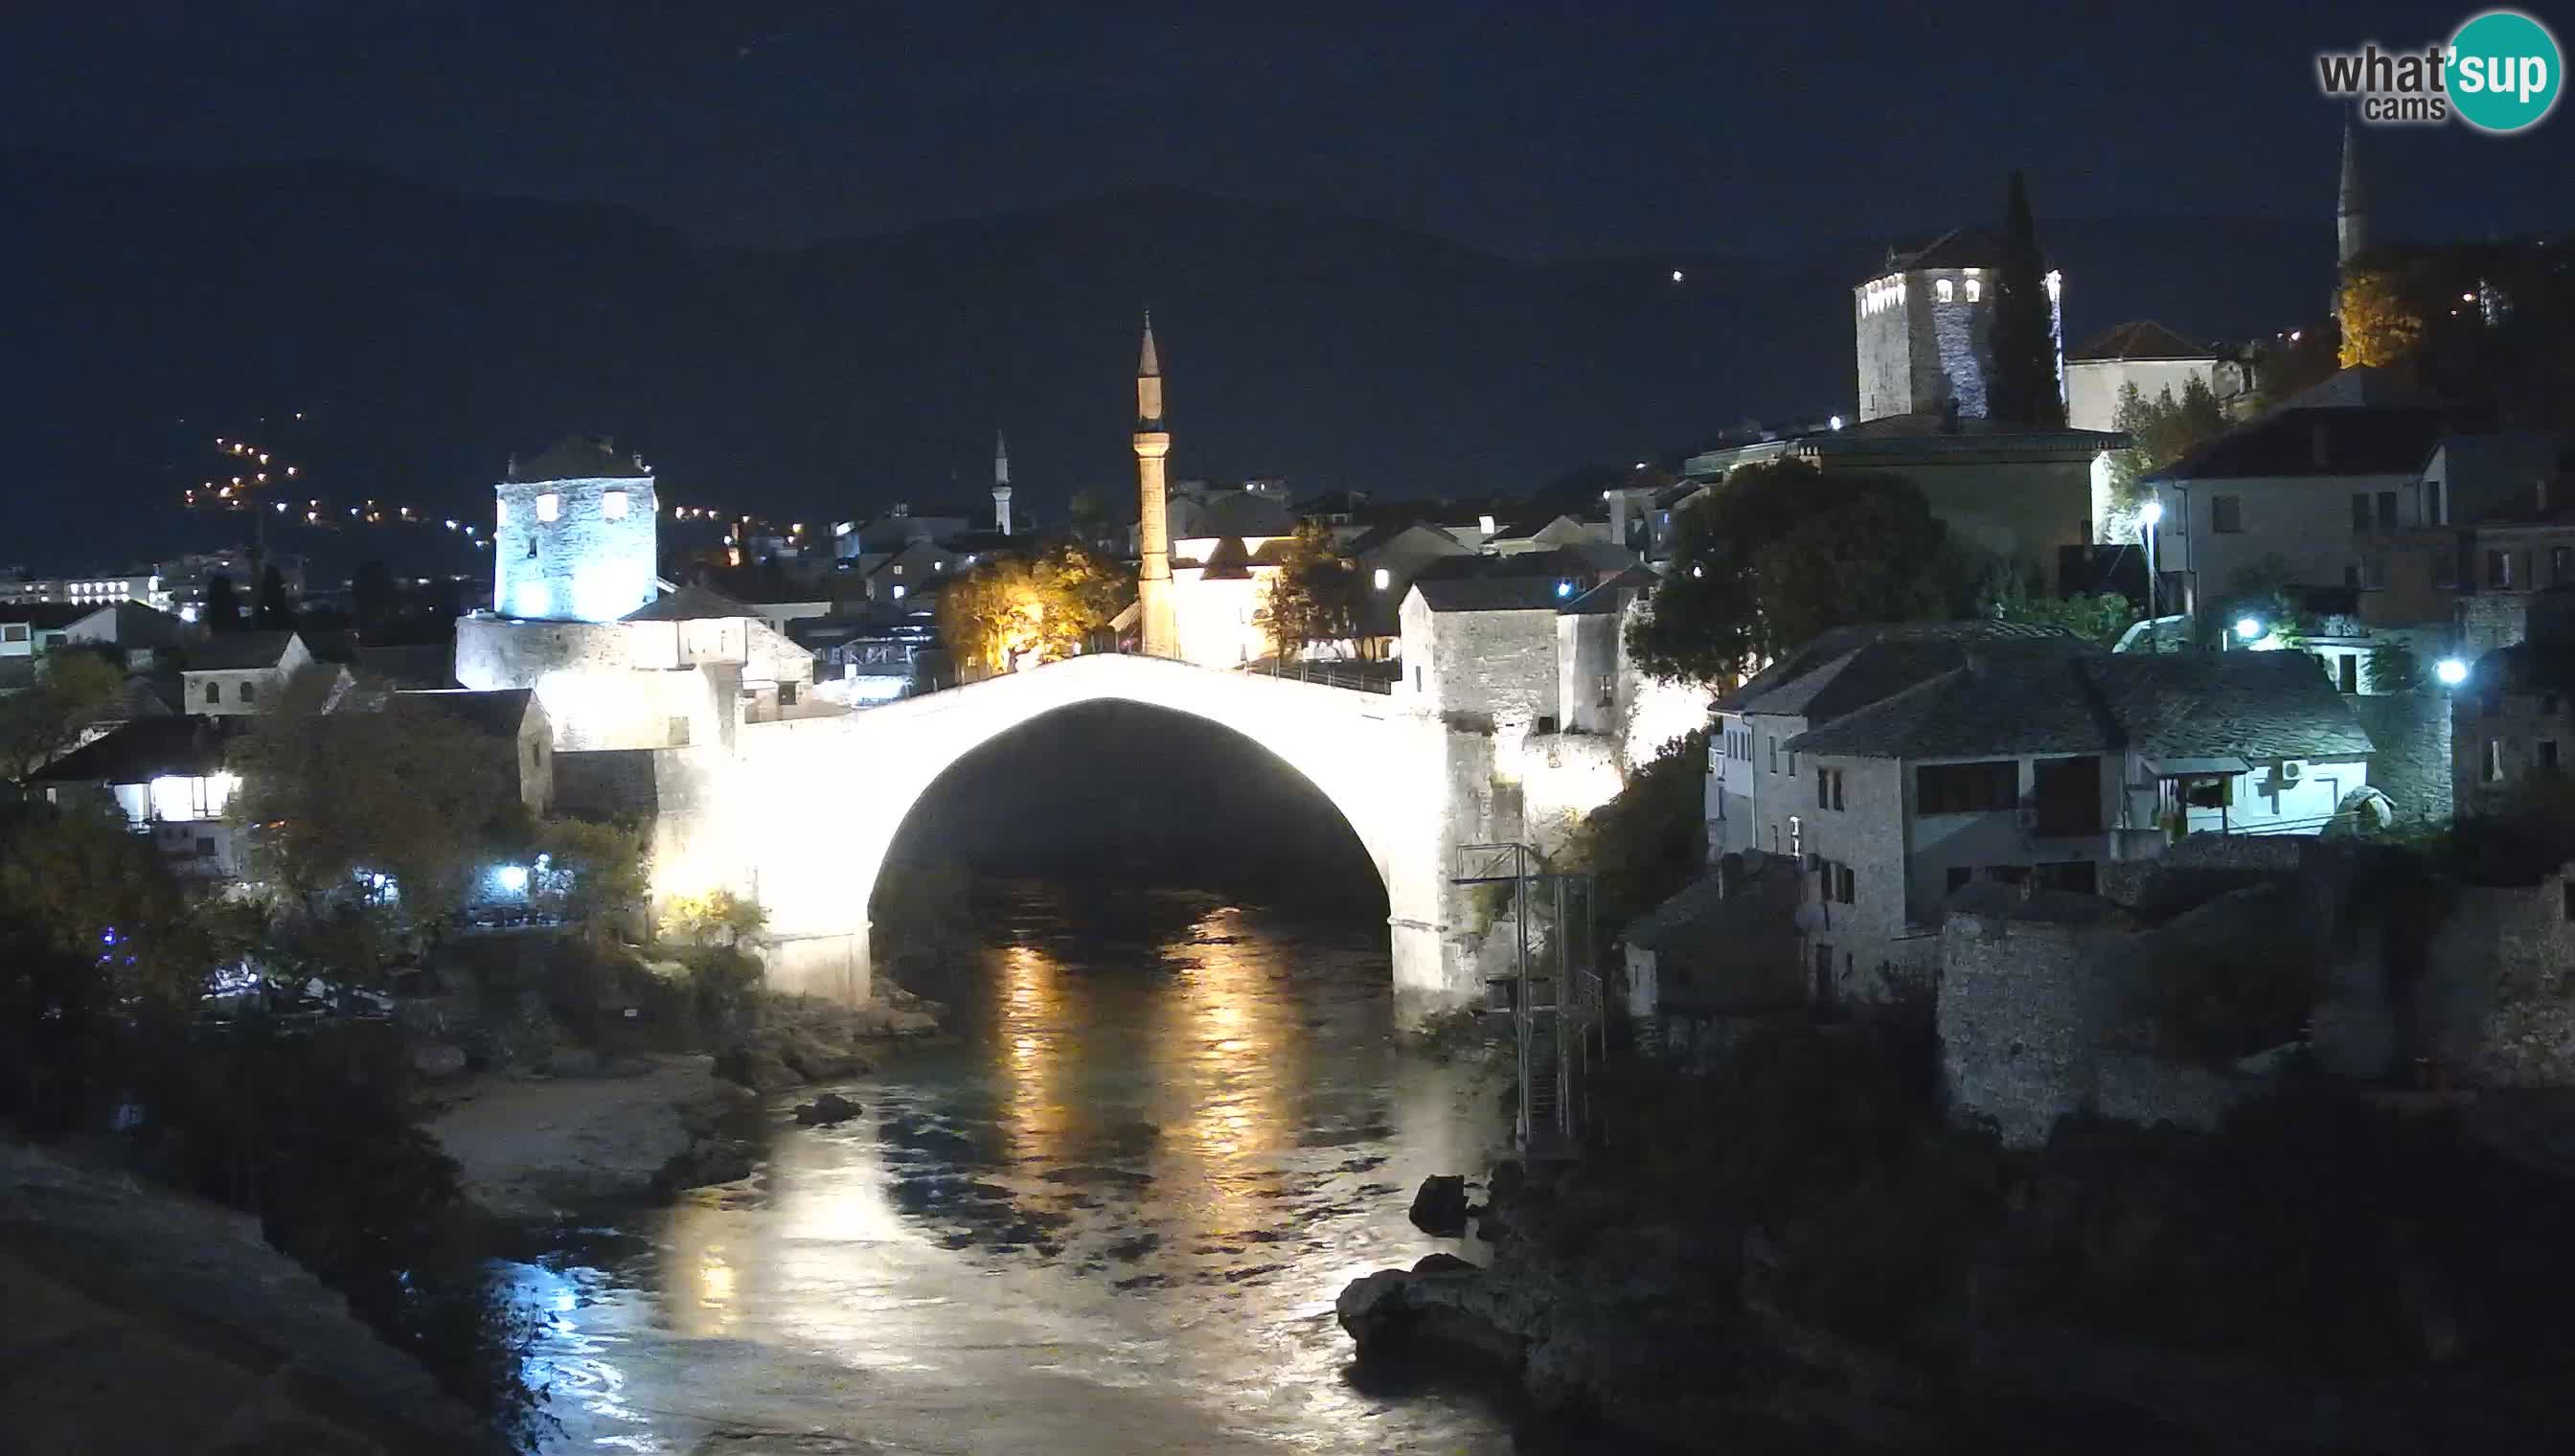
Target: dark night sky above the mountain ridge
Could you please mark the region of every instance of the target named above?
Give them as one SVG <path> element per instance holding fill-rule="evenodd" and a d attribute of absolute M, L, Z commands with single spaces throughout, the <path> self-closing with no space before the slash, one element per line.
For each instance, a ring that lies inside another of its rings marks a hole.
<path fill-rule="evenodd" d="M 670 10 L 670 15 L 664 15 Z M 2451 5 L 18 3 L 0 144 L 353 157 L 809 242 L 1190 183 L 1519 258 L 1774 250 L 1983 206 L 2305 214 L 2312 52 Z M 2542 8 L 2544 10 L 2544 8 Z M 2570 34 L 2557 26 L 2560 36 Z M 2281 170 L 2284 155 L 2299 165 Z M 2575 121 L 2382 134 L 2382 211 L 2565 227 Z"/>

